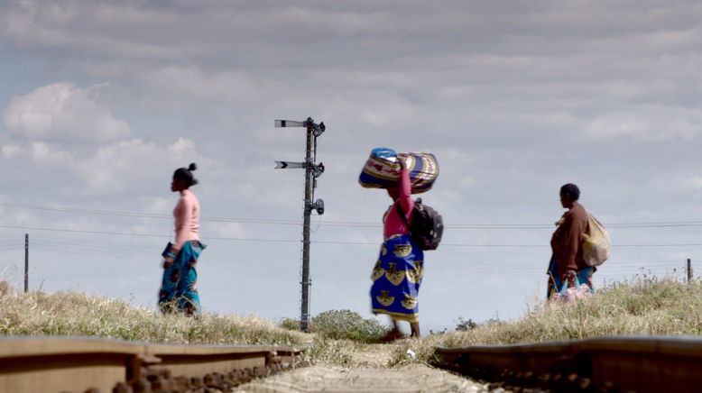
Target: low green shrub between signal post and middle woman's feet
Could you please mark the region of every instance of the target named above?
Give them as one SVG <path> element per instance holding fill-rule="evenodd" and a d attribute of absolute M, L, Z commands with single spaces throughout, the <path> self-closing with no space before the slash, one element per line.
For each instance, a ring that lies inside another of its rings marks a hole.
<path fill-rule="evenodd" d="M 329 310 L 312 318 L 310 332 L 334 340 L 376 343 L 390 330 L 376 319 L 351 310 Z"/>

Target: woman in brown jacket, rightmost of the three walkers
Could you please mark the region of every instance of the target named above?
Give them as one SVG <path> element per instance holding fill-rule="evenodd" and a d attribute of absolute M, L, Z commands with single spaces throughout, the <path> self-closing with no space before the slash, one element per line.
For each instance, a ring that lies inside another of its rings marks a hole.
<path fill-rule="evenodd" d="M 593 292 L 593 267 L 588 266 L 583 259 L 583 233 L 588 231 L 587 211 L 577 200 L 580 189 L 572 183 L 560 187 L 560 204 L 568 209 L 556 223 L 558 228 L 551 237 L 551 256 L 549 270 L 549 285 L 547 297 L 558 293 L 563 283 L 568 282 L 567 288 L 587 284 L 589 292 Z M 576 282 L 577 281 L 577 282 Z"/>

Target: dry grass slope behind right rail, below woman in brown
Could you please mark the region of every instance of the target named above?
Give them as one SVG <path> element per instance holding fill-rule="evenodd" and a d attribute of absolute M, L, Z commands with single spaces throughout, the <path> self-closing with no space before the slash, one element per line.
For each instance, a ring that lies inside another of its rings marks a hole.
<path fill-rule="evenodd" d="M 406 351 L 433 362 L 437 346 L 540 343 L 603 335 L 702 334 L 702 282 L 639 279 L 614 283 L 570 304 L 540 302 L 522 318 L 479 325 L 467 332 L 435 334 L 396 348 L 391 364 L 407 362 Z"/>

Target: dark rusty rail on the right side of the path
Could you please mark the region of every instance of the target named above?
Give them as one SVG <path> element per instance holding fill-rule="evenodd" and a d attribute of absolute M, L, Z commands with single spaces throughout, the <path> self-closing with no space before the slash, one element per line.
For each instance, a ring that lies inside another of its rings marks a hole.
<path fill-rule="evenodd" d="M 608 336 L 580 341 L 437 348 L 439 368 L 494 388 L 692 392 L 702 389 L 702 338 Z"/>

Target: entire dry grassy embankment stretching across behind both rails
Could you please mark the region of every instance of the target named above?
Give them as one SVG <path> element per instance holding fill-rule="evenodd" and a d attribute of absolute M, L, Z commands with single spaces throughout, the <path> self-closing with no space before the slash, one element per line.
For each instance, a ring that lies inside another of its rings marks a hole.
<path fill-rule="evenodd" d="M 282 324 L 290 325 L 290 321 Z M 153 343 L 311 343 L 311 359 L 346 366 L 430 363 L 436 346 L 535 343 L 612 334 L 699 335 L 702 282 L 688 285 L 673 279 L 640 279 L 614 283 L 577 303 L 540 303 L 513 321 L 480 324 L 466 332 L 433 334 L 419 341 L 369 344 L 383 335 L 383 326 L 346 310 L 322 313 L 313 318 L 312 327 L 316 334 L 302 334 L 254 316 L 206 314 L 195 320 L 160 315 L 79 293 L 15 294 L 0 282 L 0 335 L 93 335 Z M 416 359 L 407 357 L 408 349 L 416 353 Z"/>

